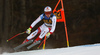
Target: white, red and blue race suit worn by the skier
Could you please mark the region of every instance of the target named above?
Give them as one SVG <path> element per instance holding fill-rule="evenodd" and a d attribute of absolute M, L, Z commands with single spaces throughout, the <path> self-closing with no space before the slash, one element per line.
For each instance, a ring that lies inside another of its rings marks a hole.
<path fill-rule="evenodd" d="M 39 21 L 43 20 L 43 24 L 34 32 L 32 32 L 27 39 L 34 38 L 38 33 L 40 35 L 38 36 L 37 40 L 42 39 L 46 33 L 50 32 L 52 34 L 55 31 L 56 27 L 56 16 L 51 14 L 51 16 L 48 18 L 45 14 L 41 14 L 30 26 L 30 28 L 33 28 Z"/>

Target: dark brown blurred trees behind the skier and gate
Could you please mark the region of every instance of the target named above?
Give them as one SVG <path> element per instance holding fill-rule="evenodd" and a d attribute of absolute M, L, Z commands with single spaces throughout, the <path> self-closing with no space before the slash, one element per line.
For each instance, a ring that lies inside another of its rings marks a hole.
<path fill-rule="evenodd" d="M 0 52 L 13 52 L 13 47 L 21 44 L 28 35 L 18 36 L 8 43 L 6 40 L 25 31 L 43 13 L 45 6 L 54 8 L 57 1 L 0 0 Z M 100 43 L 99 2 L 99 0 L 64 0 L 70 46 Z M 37 29 L 41 23 L 37 24 L 32 31 Z M 66 47 L 63 23 L 57 23 L 55 33 L 47 40 L 46 44 L 47 48 Z"/>

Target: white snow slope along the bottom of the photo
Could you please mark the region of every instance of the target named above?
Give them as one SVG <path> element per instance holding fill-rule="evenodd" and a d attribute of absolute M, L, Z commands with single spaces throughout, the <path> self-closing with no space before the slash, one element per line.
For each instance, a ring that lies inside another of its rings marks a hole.
<path fill-rule="evenodd" d="M 1 55 L 100 55 L 100 44 L 3 53 Z"/>

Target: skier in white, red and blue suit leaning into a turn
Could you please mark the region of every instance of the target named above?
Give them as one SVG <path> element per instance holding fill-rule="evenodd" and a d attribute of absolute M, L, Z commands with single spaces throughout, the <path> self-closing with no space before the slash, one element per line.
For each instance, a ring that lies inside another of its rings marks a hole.
<path fill-rule="evenodd" d="M 31 33 L 31 29 L 39 22 L 43 20 L 43 24 L 34 32 Z M 31 26 L 27 29 L 26 33 L 30 34 L 24 41 L 23 43 L 28 42 L 32 38 L 34 38 L 37 34 L 40 34 L 33 43 L 35 43 L 38 40 L 41 40 L 45 35 L 47 38 L 54 32 L 56 27 L 56 16 L 52 13 L 52 9 L 49 6 L 46 6 L 44 8 L 44 13 L 41 14 L 32 24 Z"/>

